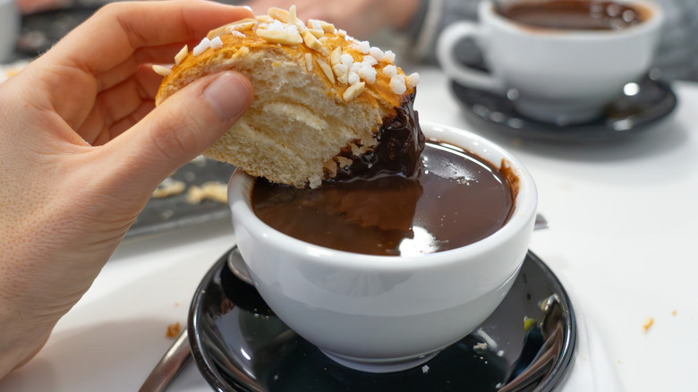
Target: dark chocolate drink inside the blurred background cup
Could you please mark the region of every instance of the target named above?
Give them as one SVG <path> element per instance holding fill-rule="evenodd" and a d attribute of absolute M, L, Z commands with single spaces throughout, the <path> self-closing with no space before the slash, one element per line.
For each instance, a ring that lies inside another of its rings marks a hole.
<path fill-rule="evenodd" d="M 500 13 L 512 21 L 544 29 L 617 30 L 643 21 L 642 11 L 612 1 L 551 0 L 509 5 Z"/>

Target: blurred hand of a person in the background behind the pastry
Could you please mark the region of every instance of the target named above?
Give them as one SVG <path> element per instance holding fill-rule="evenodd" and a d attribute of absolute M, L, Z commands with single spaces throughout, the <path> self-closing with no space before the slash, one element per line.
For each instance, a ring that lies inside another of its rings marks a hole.
<path fill-rule="evenodd" d="M 419 0 L 251 0 L 247 4 L 255 14 L 267 13 L 269 7 L 288 9 L 295 4 L 303 21 L 328 21 L 352 37 L 367 38 L 385 28 L 406 28 L 417 12 Z"/>

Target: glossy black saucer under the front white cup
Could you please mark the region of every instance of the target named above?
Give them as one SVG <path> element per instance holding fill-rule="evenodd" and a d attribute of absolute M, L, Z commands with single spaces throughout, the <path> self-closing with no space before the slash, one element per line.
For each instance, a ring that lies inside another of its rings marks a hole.
<path fill-rule="evenodd" d="M 227 259 L 201 281 L 188 324 L 193 357 L 217 391 L 550 391 L 573 362 L 572 305 L 531 252 L 504 301 L 471 335 L 422 366 L 381 374 L 328 359 L 278 320 Z"/>

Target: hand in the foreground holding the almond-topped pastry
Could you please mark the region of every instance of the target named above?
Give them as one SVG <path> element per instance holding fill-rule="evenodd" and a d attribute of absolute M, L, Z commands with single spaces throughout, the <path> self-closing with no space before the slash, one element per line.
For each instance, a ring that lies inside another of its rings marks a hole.
<path fill-rule="evenodd" d="M 0 84 L 0 378 L 44 345 L 157 184 L 251 103 L 250 81 L 223 72 L 154 109 L 150 64 L 251 16 L 192 0 L 110 4 Z"/>

